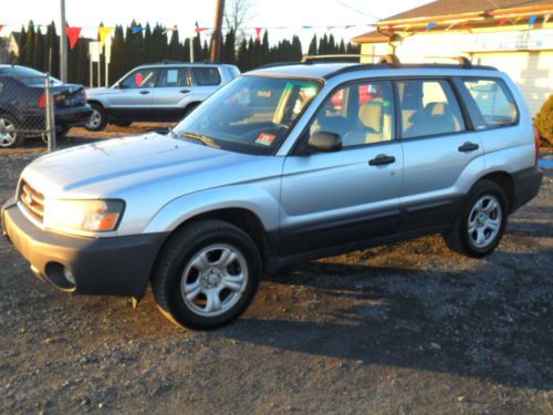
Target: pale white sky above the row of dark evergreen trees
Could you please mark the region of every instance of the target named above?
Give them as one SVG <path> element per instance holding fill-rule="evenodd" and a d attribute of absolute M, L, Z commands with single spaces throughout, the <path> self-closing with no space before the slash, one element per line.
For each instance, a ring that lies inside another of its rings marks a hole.
<path fill-rule="evenodd" d="M 229 1 L 229 0 L 227 0 Z M 371 31 L 375 20 L 369 15 L 386 18 L 413 9 L 429 0 L 251 0 L 251 22 L 248 27 L 298 27 L 290 30 L 269 30 L 271 43 L 281 38 L 299 34 L 304 48 L 314 30 L 302 25 L 336 25 L 332 31 L 317 29 L 317 34 L 333 33 L 337 39 L 351 38 Z M 59 27 L 59 0 L 0 0 L 2 34 L 19 31 L 22 23 L 32 19 L 36 24 L 54 20 Z M 194 34 L 195 21 L 200 27 L 212 27 L 215 0 L 65 0 L 66 19 L 71 25 L 83 27 L 83 35 L 96 37 L 97 25 L 127 25 L 133 19 L 145 24 L 159 22 L 165 27 L 177 25 L 181 37 Z M 353 10 L 354 9 L 354 10 Z M 357 11 L 356 11 L 357 10 Z M 361 12 L 359 12 L 361 11 Z M 364 14 L 363 14 L 363 13 Z M 363 25 L 344 29 L 345 25 Z M 251 31 L 254 35 L 254 31 Z"/>

